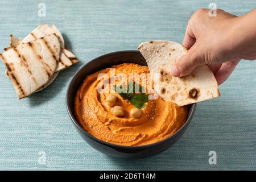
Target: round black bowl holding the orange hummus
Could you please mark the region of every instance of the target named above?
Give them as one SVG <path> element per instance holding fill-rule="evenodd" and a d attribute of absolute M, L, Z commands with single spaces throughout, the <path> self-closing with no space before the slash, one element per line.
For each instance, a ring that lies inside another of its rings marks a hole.
<path fill-rule="evenodd" d="M 71 82 L 69 83 L 66 95 L 66 106 L 69 117 L 71 118 L 81 137 L 87 143 L 89 143 L 90 146 L 102 152 L 103 154 L 122 158 L 143 158 L 159 154 L 160 152 L 171 147 L 183 135 L 195 113 L 196 104 L 188 105 L 189 111 L 187 121 L 174 135 L 171 135 L 170 137 L 159 142 L 147 144 L 144 146 L 119 146 L 117 144 L 104 142 L 103 140 L 97 139 L 96 137 L 93 137 L 87 133 L 76 121 L 73 110 L 73 101 L 76 96 L 77 89 L 81 85 L 85 76 L 100 71 L 101 69 L 112 67 L 112 65 L 118 65 L 122 63 L 147 65 L 144 57 L 139 51 L 117 51 L 102 55 L 96 59 L 93 59 L 92 61 L 89 61 L 79 71 L 76 72 L 75 76 L 73 76 Z"/>

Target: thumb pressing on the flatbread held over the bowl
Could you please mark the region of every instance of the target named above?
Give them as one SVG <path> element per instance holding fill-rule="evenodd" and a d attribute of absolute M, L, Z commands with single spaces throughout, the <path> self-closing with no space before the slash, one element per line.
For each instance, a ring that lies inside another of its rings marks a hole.
<path fill-rule="evenodd" d="M 179 60 L 177 60 L 176 65 L 172 67 L 171 74 L 175 77 L 182 77 L 186 76 L 189 73 L 191 73 L 196 67 L 198 67 L 201 64 L 204 64 L 204 60 L 201 59 L 201 56 L 199 53 L 197 53 L 196 44 L 191 47 L 191 49 L 188 50 L 188 53 L 186 55 L 183 55 L 180 57 Z"/>

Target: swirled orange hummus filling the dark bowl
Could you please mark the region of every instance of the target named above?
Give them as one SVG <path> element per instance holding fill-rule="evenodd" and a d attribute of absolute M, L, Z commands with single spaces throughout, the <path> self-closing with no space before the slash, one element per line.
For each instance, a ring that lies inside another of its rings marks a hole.
<path fill-rule="evenodd" d="M 112 68 L 115 68 L 114 77 L 118 73 L 124 75 L 150 73 L 148 67 L 137 64 L 120 64 Z M 99 74 L 106 73 L 109 76 L 107 79 L 109 81 L 110 77 L 113 77 L 110 69 L 102 69 L 87 76 L 75 97 L 75 116 L 89 134 L 109 143 L 139 146 L 163 140 L 183 126 L 187 119 L 187 107 L 179 107 L 172 102 L 163 101 L 162 98 L 148 100 L 142 108 L 141 117 L 133 118 L 130 115 L 130 110 L 134 108 L 134 105 L 114 92 L 113 94 L 117 97 L 115 106 L 122 106 L 125 115 L 123 117 L 113 115 L 110 111 L 112 107 L 106 104 L 106 97 L 109 93 L 98 92 L 98 88 L 112 89 L 111 82 L 109 87 L 104 88 L 101 85 L 102 79 L 98 79 Z M 139 83 L 141 78 L 138 79 L 134 81 Z M 114 84 L 121 82 L 118 77 L 115 77 L 114 80 Z"/>

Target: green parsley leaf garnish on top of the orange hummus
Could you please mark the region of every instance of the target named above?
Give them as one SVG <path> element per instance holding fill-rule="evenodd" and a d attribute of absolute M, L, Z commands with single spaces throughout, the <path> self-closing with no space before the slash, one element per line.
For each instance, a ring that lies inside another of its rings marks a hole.
<path fill-rule="evenodd" d="M 146 102 L 148 102 L 149 94 L 144 93 L 143 86 L 138 85 L 136 82 L 128 82 L 127 88 L 123 86 L 113 85 L 113 89 L 117 92 L 122 98 L 127 99 L 135 107 L 142 109 Z"/>

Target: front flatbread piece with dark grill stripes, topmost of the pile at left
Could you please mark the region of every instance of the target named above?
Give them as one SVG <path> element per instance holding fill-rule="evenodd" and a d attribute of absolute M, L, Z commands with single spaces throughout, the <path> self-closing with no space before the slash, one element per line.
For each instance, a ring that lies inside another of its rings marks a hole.
<path fill-rule="evenodd" d="M 46 85 L 60 59 L 60 42 L 55 34 L 18 44 L 0 54 L 19 98 Z"/>

